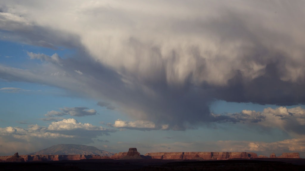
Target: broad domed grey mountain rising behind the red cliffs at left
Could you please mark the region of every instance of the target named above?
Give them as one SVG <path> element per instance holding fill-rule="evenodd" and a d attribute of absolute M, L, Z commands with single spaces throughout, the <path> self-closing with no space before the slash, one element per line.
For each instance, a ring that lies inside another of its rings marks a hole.
<path fill-rule="evenodd" d="M 58 144 L 28 155 L 113 155 L 111 152 L 100 150 L 93 146 L 77 144 Z"/>

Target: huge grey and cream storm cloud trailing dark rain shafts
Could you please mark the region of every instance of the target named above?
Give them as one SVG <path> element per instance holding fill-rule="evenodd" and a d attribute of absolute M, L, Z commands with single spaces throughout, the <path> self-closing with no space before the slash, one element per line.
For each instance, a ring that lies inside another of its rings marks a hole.
<path fill-rule="evenodd" d="M 174 130 L 214 122 L 215 100 L 305 103 L 303 1 L 15 3 L 0 2 L 2 40 L 14 34 L 26 44 L 78 51 L 70 58 L 29 52 L 45 63 L 0 65 L 6 81 L 106 100 L 135 120 Z"/>

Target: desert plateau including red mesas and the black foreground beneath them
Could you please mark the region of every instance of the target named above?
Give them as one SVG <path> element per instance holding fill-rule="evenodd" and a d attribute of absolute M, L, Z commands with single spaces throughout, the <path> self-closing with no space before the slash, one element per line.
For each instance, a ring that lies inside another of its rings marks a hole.
<path fill-rule="evenodd" d="M 253 152 L 155 152 L 137 148 L 114 155 L 19 155 L 0 157 L 0 170 L 303 170 L 299 153 L 270 158 Z"/>

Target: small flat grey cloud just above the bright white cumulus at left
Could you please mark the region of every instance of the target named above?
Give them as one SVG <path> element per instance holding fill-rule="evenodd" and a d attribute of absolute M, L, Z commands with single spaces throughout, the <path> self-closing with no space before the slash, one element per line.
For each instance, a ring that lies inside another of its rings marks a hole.
<path fill-rule="evenodd" d="M 71 115 L 71 116 L 90 116 L 90 115 L 96 115 L 97 112 L 94 109 L 89 109 L 88 107 L 65 107 L 60 108 L 61 112 L 59 111 L 49 111 L 47 114 L 45 114 L 46 117 L 54 117 L 54 116 L 63 116 L 63 115 Z"/>

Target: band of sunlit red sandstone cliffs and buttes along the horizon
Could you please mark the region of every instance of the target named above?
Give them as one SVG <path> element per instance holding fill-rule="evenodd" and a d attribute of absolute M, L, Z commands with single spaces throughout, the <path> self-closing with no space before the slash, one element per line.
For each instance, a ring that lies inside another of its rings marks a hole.
<path fill-rule="evenodd" d="M 228 159 L 256 159 L 268 158 L 264 155 L 257 156 L 253 152 L 154 152 L 140 155 L 137 148 L 129 148 L 128 152 L 119 152 L 111 156 L 101 155 L 18 155 L 0 156 L 0 162 L 30 162 L 30 161 L 60 161 L 82 159 L 175 159 L 175 160 L 228 160 Z M 274 153 L 270 158 L 300 159 L 297 152 L 282 153 L 276 157 Z"/>

